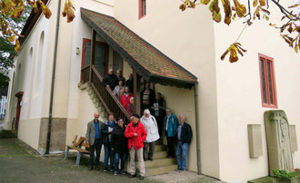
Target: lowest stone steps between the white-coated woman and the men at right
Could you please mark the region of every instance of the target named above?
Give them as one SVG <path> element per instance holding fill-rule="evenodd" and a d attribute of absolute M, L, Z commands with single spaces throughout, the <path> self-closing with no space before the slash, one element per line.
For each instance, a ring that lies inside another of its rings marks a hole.
<path fill-rule="evenodd" d="M 163 145 L 162 140 L 156 141 L 153 161 L 145 161 L 145 175 L 164 174 L 177 169 L 178 165 L 176 159 L 166 159 L 166 156 L 166 145 Z"/>

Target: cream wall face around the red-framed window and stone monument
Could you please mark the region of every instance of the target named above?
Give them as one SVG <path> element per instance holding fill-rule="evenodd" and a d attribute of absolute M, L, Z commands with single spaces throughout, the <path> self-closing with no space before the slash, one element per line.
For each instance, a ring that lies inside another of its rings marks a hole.
<path fill-rule="evenodd" d="M 225 61 L 220 57 L 235 42 L 245 19 L 230 26 L 214 24 L 220 178 L 228 182 L 246 182 L 268 175 L 264 112 L 274 109 L 262 107 L 258 53 L 274 58 L 278 110 L 284 110 L 289 123 L 295 124 L 300 145 L 300 55 L 288 47 L 278 29 L 268 25 L 279 25 L 275 20 L 282 17 L 272 2 L 269 4 L 270 21 L 255 21 L 238 40 L 247 52 L 244 57 L 239 56 L 237 63 L 229 63 L 229 54 Z M 249 158 L 247 124 L 261 124 L 262 157 Z M 293 158 L 294 167 L 299 168 L 300 152 L 296 151 Z"/>

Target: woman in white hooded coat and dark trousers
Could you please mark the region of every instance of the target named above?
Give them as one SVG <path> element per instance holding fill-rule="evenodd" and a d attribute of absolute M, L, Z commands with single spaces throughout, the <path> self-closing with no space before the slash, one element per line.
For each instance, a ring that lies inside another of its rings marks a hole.
<path fill-rule="evenodd" d="M 140 121 L 144 124 L 145 131 L 147 132 L 147 138 L 144 141 L 144 159 L 152 161 L 155 152 L 155 141 L 159 139 L 157 123 L 155 117 L 147 109 L 144 111 L 144 116 Z M 149 152 L 148 146 L 150 146 Z"/>

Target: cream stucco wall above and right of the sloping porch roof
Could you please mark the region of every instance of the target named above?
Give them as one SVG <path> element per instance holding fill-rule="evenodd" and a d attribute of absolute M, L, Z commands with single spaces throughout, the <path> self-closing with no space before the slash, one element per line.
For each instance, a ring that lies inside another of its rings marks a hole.
<path fill-rule="evenodd" d="M 145 17 L 138 19 L 138 1 L 116 0 L 115 18 L 198 77 L 202 172 L 218 178 L 219 138 L 213 22 L 205 7 L 199 6 L 196 11 L 187 10 L 183 13 L 179 10 L 180 4 L 180 1 L 172 0 L 147 1 Z M 188 90 L 183 92 L 194 95 Z M 169 107 L 173 108 L 172 105 Z M 189 108 L 175 107 L 175 111 L 182 109 Z M 189 122 L 195 130 L 195 120 Z M 196 151 L 193 148 L 190 150 L 189 159 L 193 160 L 193 165 L 190 164 L 188 169 L 196 171 Z"/>

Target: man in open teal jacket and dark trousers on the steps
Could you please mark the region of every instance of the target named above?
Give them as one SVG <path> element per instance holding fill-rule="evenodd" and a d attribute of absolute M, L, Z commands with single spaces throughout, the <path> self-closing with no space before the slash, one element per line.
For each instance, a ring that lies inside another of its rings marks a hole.
<path fill-rule="evenodd" d="M 175 133 L 177 130 L 178 120 L 172 113 L 171 109 L 166 109 L 164 130 L 167 141 L 167 157 L 175 158 L 174 145 L 175 145 Z"/>

